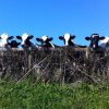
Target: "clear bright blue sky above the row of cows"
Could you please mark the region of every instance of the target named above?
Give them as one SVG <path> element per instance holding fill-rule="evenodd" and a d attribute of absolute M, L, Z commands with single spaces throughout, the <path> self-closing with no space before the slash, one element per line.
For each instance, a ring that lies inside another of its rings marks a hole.
<path fill-rule="evenodd" d="M 84 37 L 93 33 L 109 35 L 109 0 L 0 0 L 0 34 L 36 37 L 75 35 L 74 43 L 88 45 Z"/>

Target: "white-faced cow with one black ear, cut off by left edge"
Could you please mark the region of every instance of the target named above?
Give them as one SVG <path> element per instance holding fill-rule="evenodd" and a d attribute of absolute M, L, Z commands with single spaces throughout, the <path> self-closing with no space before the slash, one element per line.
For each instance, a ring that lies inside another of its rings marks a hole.
<path fill-rule="evenodd" d="M 10 44 L 9 44 L 9 40 L 13 39 L 14 37 L 13 36 L 9 36 L 7 33 L 3 33 L 1 36 L 0 36 L 0 47 L 1 48 L 10 48 Z"/>

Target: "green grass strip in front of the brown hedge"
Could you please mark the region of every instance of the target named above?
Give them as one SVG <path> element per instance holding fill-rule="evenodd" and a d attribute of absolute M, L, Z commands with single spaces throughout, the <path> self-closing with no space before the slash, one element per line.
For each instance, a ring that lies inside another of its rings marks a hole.
<path fill-rule="evenodd" d="M 109 85 L 0 81 L 0 109 L 109 109 Z"/>

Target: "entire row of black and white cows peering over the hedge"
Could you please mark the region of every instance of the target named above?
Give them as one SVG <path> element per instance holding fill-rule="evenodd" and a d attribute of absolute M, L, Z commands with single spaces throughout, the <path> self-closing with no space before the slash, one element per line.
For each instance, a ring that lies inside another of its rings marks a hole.
<path fill-rule="evenodd" d="M 26 33 L 24 33 L 22 36 L 16 36 L 16 38 L 20 41 L 16 41 L 14 39 L 14 36 L 9 36 L 8 34 L 3 33 L 0 36 L 0 48 L 19 48 L 19 46 L 21 45 L 21 47 L 23 49 L 27 49 L 27 48 L 32 48 L 32 49 L 40 49 L 40 48 L 57 48 L 59 46 L 52 44 L 52 37 L 48 37 L 47 35 L 40 37 L 40 38 L 36 38 L 37 41 L 40 43 L 40 45 L 34 44 L 33 41 L 31 41 L 31 39 L 33 38 L 33 35 L 28 35 Z M 73 39 L 75 38 L 75 35 L 71 35 L 69 33 L 64 34 L 63 36 L 59 36 L 60 40 L 64 41 L 64 46 L 70 46 L 70 47 L 82 47 L 82 48 L 86 48 L 87 46 L 81 46 L 81 45 L 76 45 Z M 99 36 L 99 34 L 92 34 L 89 37 L 85 37 L 86 40 L 89 41 L 89 48 L 92 48 L 93 50 L 97 50 L 99 48 L 101 49 L 106 49 L 109 48 L 109 37 L 105 37 L 105 36 Z M 100 41 L 100 45 L 98 44 Z"/>

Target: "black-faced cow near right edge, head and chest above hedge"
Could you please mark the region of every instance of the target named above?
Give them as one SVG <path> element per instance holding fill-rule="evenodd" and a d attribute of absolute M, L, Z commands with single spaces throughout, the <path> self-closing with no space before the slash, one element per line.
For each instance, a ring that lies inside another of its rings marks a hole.
<path fill-rule="evenodd" d="M 86 40 L 89 40 L 89 47 L 87 47 L 87 57 L 89 56 L 90 52 L 97 53 L 99 56 L 104 56 L 104 49 L 101 48 L 101 46 L 98 45 L 99 40 L 104 40 L 105 37 L 104 36 L 99 36 L 99 34 L 92 34 L 90 37 L 85 37 Z"/>

